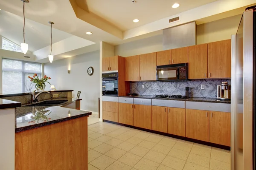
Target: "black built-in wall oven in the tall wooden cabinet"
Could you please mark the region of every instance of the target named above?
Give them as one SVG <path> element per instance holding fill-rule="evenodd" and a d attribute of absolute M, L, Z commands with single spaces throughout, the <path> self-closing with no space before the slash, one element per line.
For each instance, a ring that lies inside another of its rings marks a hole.
<path fill-rule="evenodd" d="M 118 96 L 118 73 L 102 74 L 102 95 Z"/>

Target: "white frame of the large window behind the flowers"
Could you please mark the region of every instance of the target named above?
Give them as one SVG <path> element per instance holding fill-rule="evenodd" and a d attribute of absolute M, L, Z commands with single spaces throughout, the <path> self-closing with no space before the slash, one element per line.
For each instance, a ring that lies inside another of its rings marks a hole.
<path fill-rule="evenodd" d="M 3 64 L 3 60 L 5 59 L 8 59 L 8 58 L 2 58 L 2 64 Z M 25 79 L 27 78 L 26 77 L 26 74 L 39 74 L 39 78 L 41 79 L 42 77 L 42 63 L 39 63 L 39 62 L 29 62 L 29 61 L 23 61 L 23 60 L 18 60 L 18 59 L 8 59 L 8 60 L 13 60 L 13 61 L 20 61 L 21 62 L 21 69 L 14 69 L 14 68 L 3 68 L 3 65 L 2 65 L 2 74 L 3 74 L 3 71 L 17 71 L 17 72 L 21 72 L 21 79 L 22 79 L 22 91 L 21 92 L 25 92 L 26 91 L 26 87 L 25 87 Z M 40 64 L 40 71 L 30 71 L 30 70 L 25 70 L 25 63 L 31 63 L 31 64 Z M 3 76 L 1 74 L 1 77 L 2 77 L 2 82 L 3 82 Z M 28 79 L 28 78 L 27 78 Z M 20 93 L 21 93 L 20 92 Z"/>

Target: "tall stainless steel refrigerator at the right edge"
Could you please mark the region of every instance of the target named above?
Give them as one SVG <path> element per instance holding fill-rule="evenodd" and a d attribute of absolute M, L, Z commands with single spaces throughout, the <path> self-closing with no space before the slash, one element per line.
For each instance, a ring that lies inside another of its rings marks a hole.
<path fill-rule="evenodd" d="M 256 6 L 246 8 L 231 43 L 231 170 L 254 170 Z"/>

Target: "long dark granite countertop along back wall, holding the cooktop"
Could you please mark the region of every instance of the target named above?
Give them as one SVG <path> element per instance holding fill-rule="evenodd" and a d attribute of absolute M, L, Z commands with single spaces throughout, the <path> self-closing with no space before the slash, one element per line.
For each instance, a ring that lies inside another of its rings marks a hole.
<path fill-rule="evenodd" d="M 189 102 L 211 102 L 211 103 L 231 103 L 230 100 L 219 100 L 217 98 L 203 98 L 203 97 L 189 97 L 189 99 L 169 99 L 169 98 L 157 98 L 155 96 L 119 96 L 119 97 L 131 97 L 131 98 L 143 98 L 143 99 L 161 99 L 161 100 L 180 100 Z"/>

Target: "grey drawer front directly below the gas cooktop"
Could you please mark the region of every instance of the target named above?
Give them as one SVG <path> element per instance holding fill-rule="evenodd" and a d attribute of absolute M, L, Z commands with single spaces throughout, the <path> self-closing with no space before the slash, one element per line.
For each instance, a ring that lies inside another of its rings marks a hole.
<path fill-rule="evenodd" d="M 152 105 L 170 108 L 185 108 L 185 101 L 152 99 Z"/>

